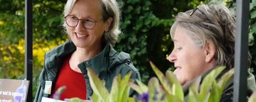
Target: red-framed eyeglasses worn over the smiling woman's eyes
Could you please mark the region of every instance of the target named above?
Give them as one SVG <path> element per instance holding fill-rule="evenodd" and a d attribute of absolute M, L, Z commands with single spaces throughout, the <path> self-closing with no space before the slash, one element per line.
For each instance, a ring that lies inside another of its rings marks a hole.
<path fill-rule="evenodd" d="M 82 20 L 83 26 L 86 29 L 93 29 L 97 22 L 102 21 L 103 19 L 100 19 L 98 21 L 94 20 L 93 18 L 86 17 L 84 19 L 78 19 L 76 16 L 68 15 L 64 17 L 66 19 L 66 23 L 70 27 L 75 27 L 78 24 L 79 20 Z"/>

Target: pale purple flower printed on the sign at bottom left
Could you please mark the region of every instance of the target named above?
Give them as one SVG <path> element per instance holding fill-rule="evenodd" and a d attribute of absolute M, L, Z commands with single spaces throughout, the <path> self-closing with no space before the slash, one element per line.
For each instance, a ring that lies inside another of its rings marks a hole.
<path fill-rule="evenodd" d="M 24 80 L 21 82 L 21 87 L 18 87 L 15 94 L 13 95 L 14 102 L 25 101 L 26 98 L 26 85 L 24 85 Z"/>

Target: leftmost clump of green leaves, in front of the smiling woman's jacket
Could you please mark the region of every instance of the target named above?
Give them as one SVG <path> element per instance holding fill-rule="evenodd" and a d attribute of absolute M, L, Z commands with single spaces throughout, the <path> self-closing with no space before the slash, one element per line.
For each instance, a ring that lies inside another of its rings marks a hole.
<path fill-rule="evenodd" d="M 132 83 L 130 79 L 131 72 L 127 73 L 126 76 L 121 79 L 121 75 L 115 76 L 111 86 L 110 93 L 105 87 L 104 80 L 100 80 L 93 70 L 87 68 L 88 77 L 90 81 L 93 94 L 90 99 L 93 102 L 133 102 L 133 98 L 129 98 L 130 87 L 127 83 Z"/>

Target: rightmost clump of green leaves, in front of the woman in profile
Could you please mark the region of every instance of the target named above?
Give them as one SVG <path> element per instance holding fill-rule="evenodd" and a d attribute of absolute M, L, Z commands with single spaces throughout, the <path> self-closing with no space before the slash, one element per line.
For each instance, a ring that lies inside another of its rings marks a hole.
<path fill-rule="evenodd" d="M 219 102 L 226 82 L 234 74 L 234 68 L 223 74 L 218 82 L 216 77 L 225 69 L 225 66 L 216 67 L 205 76 L 201 85 L 198 77 L 189 87 L 189 102 Z M 198 88 L 200 87 L 200 92 Z"/>

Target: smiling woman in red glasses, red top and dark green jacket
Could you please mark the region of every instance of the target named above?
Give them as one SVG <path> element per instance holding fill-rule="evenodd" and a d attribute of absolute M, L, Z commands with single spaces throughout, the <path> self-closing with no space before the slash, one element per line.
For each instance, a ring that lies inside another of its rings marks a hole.
<path fill-rule="evenodd" d="M 89 100 L 93 91 L 86 68 L 105 81 L 108 91 L 118 74 L 123 77 L 131 71 L 130 78 L 140 80 L 130 55 L 117 54 L 111 46 L 120 34 L 120 10 L 115 0 L 68 0 L 64 16 L 63 27 L 70 40 L 45 53 L 34 102 L 40 102 L 42 97 L 53 98 L 61 86 L 66 86 L 66 90 L 60 100 L 73 97 Z M 130 96 L 134 94 L 130 90 Z"/>

